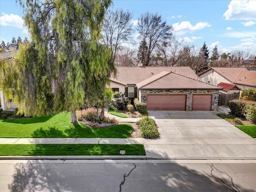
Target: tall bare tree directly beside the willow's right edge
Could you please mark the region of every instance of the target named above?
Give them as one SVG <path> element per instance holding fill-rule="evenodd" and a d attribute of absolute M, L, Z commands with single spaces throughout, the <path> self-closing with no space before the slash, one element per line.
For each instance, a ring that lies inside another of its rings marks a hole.
<path fill-rule="evenodd" d="M 132 41 L 132 13 L 128 10 L 109 10 L 103 20 L 102 39 L 111 49 L 111 58 L 114 62 L 118 46 Z"/>

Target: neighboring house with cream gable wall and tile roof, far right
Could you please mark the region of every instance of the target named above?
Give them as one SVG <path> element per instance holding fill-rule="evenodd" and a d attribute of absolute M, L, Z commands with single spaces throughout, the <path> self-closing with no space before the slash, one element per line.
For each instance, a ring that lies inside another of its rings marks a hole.
<path fill-rule="evenodd" d="M 256 89 L 256 71 L 245 67 L 212 67 L 200 73 L 202 81 L 217 85 L 221 82 L 235 84 L 241 90 Z"/>

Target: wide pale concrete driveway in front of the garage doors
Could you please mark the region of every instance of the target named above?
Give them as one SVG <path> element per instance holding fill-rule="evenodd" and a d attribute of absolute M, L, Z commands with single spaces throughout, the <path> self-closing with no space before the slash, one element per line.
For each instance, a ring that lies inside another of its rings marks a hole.
<path fill-rule="evenodd" d="M 256 139 L 212 111 L 148 111 L 160 138 L 143 139 L 147 158 L 256 159 Z"/>

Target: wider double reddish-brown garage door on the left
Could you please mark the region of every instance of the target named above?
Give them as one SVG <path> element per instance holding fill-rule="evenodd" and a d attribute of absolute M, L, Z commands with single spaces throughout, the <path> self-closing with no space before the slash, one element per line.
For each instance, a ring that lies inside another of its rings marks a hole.
<path fill-rule="evenodd" d="M 148 95 L 148 110 L 186 110 L 186 95 Z"/>

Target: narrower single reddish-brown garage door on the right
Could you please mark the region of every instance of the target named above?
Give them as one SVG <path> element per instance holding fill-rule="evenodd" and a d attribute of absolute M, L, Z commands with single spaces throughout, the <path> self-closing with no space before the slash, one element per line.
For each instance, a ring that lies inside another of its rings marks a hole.
<path fill-rule="evenodd" d="M 212 109 L 212 95 L 194 95 L 192 110 L 210 111 Z"/>

